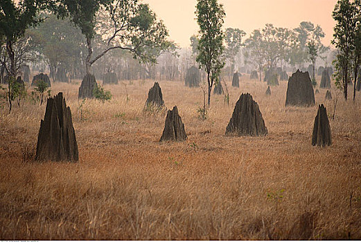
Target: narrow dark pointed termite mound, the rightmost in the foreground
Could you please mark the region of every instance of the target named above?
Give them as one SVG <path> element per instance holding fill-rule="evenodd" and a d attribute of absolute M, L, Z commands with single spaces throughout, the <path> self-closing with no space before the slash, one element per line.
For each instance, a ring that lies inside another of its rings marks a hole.
<path fill-rule="evenodd" d="M 312 131 L 312 145 L 332 145 L 330 123 L 324 104 L 319 105 Z"/>

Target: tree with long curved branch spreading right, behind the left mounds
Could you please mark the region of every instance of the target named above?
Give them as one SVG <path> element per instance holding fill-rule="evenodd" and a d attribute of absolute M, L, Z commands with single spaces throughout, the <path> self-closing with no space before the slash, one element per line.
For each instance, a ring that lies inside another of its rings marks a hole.
<path fill-rule="evenodd" d="M 59 1 L 59 15 L 69 16 L 85 35 L 87 74 L 91 73 L 91 65 L 110 50 L 128 50 L 143 62 L 156 62 L 156 58 L 145 49 L 166 48 L 168 30 L 162 21 L 157 20 L 148 4 L 140 4 L 137 0 Z M 96 32 L 106 44 L 93 56 L 92 42 Z"/>

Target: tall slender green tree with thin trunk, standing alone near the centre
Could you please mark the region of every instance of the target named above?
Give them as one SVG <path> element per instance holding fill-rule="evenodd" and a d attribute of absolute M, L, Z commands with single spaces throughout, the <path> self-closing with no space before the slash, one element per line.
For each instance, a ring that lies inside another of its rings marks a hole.
<path fill-rule="evenodd" d="M 217 0 L 197 0 L 195 15 L 198 32 L 198 55 L 196 61 L 207 74 L 208 106 L 211 105 L 211 91 L 214 82 L 219 82 L 220 71 L 225 62 L 222 59 L 224 50 L 224 24 L 225 12 L 223 5 Z"/>

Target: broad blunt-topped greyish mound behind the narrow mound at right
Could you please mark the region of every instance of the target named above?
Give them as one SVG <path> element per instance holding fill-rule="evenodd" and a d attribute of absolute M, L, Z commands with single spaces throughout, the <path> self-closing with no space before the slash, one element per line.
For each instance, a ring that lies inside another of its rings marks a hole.
<path fill-rule="evenodd" d="M 315 93 L 308 72 L 297 70 L 288 80 L 285 106 L 313 106 Z"/>

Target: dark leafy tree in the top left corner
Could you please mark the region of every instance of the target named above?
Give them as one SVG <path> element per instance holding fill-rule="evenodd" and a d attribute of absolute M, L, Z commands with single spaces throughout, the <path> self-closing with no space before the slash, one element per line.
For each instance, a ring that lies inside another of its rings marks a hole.
<path fill-rule="evenodd" d="M 20 68 L 16 62 L 14 46 L 21 37 L 24 37 L 26 29 L 42 21 L 42 19 L 37 17 L 37 13 L 46 7 L 46 3 L 50 3 L 50 1 L 20 0 L 19 3 L 15 3 L 15 1 L 12 0 L 1 1 L 0 36 L 5 39 L 6 53 L 10 62 L 9 65 L 5 63 L 3 63 L 3 65 L 6 66 L 9 77 L 16 78 Z M 10 82 L 8 82 L 9 113 L 12 108 L 12 100 L 10 97 L 12 97 L 12 88 Z"/>

